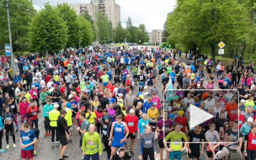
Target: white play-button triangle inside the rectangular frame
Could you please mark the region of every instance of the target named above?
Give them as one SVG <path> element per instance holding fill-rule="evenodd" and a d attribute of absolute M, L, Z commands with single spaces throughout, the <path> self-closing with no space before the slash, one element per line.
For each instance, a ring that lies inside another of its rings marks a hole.
<path fill-rule="evenodd" d="M 205 112 L 205 110 L 200 109 L 193 104 L 190 104 L 189 108 L 189 128 L 194 128 L 195 126 L 204 123 L 206 120 L 213 118 L 213 115 Z"/>

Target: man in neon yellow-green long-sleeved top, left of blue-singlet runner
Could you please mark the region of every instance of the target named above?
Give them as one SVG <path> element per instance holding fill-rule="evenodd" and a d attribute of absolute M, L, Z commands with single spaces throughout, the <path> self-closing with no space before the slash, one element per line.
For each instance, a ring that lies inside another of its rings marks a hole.
<path fill-rule="evenodd" d="M 99 160 L 102 155 L 102 143 L 99 133 L 95 132 L 95 125 L 89 125 L 88 132 L 83 135 L 82 151 L 83 160 L 89 160 L 90 157 Z"/>

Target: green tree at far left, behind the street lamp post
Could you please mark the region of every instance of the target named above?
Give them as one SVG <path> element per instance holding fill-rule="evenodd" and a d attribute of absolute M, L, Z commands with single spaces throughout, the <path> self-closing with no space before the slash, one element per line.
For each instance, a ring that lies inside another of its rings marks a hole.
<path fill-rule="evenodd" d="M 7 9 L 0 0 L 0 44 L 9 44 Z M 13 51 L 28 50 L 29 23 L 35 16 L 33 3 L 29 0 L 9 0 L 10 24 L 12 30 Z"/>

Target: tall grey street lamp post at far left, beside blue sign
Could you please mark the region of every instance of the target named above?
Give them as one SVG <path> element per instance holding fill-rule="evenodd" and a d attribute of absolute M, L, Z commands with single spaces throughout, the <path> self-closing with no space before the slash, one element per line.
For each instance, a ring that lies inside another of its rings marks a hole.
<path fill-rule="evenodd" d="M 15 67 L 14 67 L 14 56 L 13 56 L 13 42 L 12 42 L 12 32 L 11 32 L 11 24 L 10 24 L 10 15 L 9 15 L 9 7 L 10 3 L 7 0 L 3 4 L 6 5 L 7 8 L 7 16 L 8 16 L 8 29 L 9 29 L 9 40 L 10 40 L 10 51 L 11 51 L 11 62 L 12 62 L 12 68 L 13 68 L 13 77 L 15 76 Z"/>

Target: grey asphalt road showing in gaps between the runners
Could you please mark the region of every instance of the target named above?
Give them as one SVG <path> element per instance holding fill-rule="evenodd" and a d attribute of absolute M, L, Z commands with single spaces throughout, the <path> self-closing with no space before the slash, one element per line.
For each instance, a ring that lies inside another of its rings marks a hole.
<path fill-rule="evenodd" d="M 207 83 L 208 81 L 205 80 L 205 83 Z M 158 92 L 160 93 L 160 98 L 163 99 L 163 94 L 162 94 L 162 85 L 160 82 L 157 82 L 157 88 L 158 88 Z M 215 88 L 216 88 L 216 84 L 215 84 Z M 135 88 L 135 93 L 138 93 L 138 87 Z M 40 107 L 40 110 L 42 111 L 42 107 Z M 40 113 L 39 116 L 39 130 L 40 130 L 40 141 L 39 141 L 39 145 L 38 145 L 38 149 L 37 149 L 37 153 L 38 153 L 38 157 L 35 157 L 36 160 L 57 160 L 59 159 L 59 149 L 55 148 L 55 149 L 51 149 L 51 137 L 47 136 L 44 137 L 45 135 L 45 127 L 44 127 L 44 122 L 42 120 L 42 112 Z M 19 117 L 19 121 L 20 121 L 20 117 Z M 20 124 L 19 124 L 20 125 Z M 16 148 L 12 148 L 13 147 L 13 141 L 11 139 L 11 137 L 9 137 L 9 145 L 10 148 L 7 150 L 6 153 L 0 153 L 0 160 L 20 160 L 20 143 L 19 143 L 19 132 L 15 133 L 16 136 Z M 79 160 L 82 159 L 82 151 L 81 149 L 79 149 L 79 135 L 77 131 L 72 131 L 72 143 L 69 144 L 68 149 L 67 149 L 67 156 L 69 156 L 70 160 Z M 156 142 L 156 147 L 157 147 L 157 153 L 158 153 L 158 142 Z M 130 142 L 128 142 L 128 147 L 130 145 Z M 6 147 L 6 141 L 5 141 L 5 136 L 3 136 L 3 149 L 5 149 Z M 138 150 L 140 149 L 140 147 L 138 147 L 137 143 L 135 143 L 135 147 L 134 147 L 134 152 L 135 152 L 135 156 L 134 159 L 137 160 L 138 159 Z M 165 155 L 165 154 L 164 154 Z M 103 153 L 102 157 L 100 157 L 101 160 L 104 159 L 104 157 L 106 157 L 107 154 L 106 152 Z M 182 156 L 182 160 L 186 160 L 187 157 L 185 155 L 185 153 L 183 153 Z M 156 160 L 160 160 L 159 154 L 157 155 Z M 205 158 L 205 154 L 201 156 L 201 160 L 206 160 Z"/>

